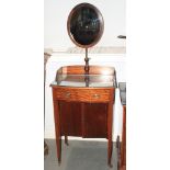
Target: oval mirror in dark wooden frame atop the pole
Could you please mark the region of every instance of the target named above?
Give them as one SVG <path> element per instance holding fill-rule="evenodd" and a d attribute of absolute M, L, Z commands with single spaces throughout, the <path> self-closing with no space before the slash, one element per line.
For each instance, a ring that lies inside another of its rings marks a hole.
<path fill-rule="evenodd" d="M 90 3 L 76 5 L 68 16 L 68 35 L 79 47 L 88 48 L 94 46 L 100 41 L 103 30 L 103 16 Z"/>

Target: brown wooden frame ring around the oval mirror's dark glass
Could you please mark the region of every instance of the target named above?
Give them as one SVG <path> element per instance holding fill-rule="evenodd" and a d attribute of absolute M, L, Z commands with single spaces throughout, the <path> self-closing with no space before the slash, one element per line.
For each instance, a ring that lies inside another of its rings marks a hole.
<path fill-rule="evenodd" d="M 82 45 L 82 44 L 79 44 L 78 42 L 76 42 L 75 38 L 72 37 L 71 33 L 70 33 L 70 21 L 71 21 L 71 16 L 77 11 L 77 9 L 82 8 L 82 7 L 87 7 L 87 8 L 93 9 L 97 12 L 98 18 L 100 20 L 100 31 L 99 31 L 99 34 L 98 34 L 97 38 L 93 41 L 93 43 L 88 44 L 88 45 Z M 69 35 L 70 39 L 72 41 L 72 43 L 76 44 L 79 47 L 89 48 L 89 47 L 94 46 L 101 39 L 101 37 L 103 35 L 103 31 L 104 31 L 104 20 L 103 20 L 103 16 L 102 16 L 101 12 L 93 4 L 90 4 L 90 3 L 80 3 L 80 4 L 76 5 L 71 10 L 71 12 L 69 13 L 69 15 L 68 15 L 68 20 L 67 20 L 67 32 L 68 32 L 68 35 Z"/>

